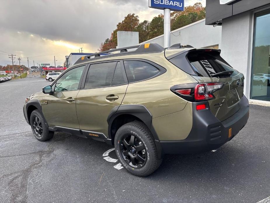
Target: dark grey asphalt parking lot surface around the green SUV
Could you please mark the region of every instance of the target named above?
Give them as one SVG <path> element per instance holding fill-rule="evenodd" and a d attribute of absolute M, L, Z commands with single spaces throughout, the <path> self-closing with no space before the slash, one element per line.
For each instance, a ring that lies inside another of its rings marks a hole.
<path fill-rule="evenodd" d="M 247 125 L 216 152 L 166 155 L 140 178 L 120 169 L 103 142 L 64 133 L 36 140 L 22 106 L 48 84 L 0 84 L 0 202 L 256 203 L 270 196 L 270 107 L 251 105 Z"/>

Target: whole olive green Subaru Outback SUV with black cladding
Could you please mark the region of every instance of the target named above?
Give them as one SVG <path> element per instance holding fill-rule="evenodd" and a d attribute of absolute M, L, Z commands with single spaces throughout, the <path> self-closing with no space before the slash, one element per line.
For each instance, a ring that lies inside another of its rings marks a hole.
<path fill-rule="evenodd" d="M 36 139 L 64 132 L 106 142 L 127 171 L 147 176 L 163 154 L 231 140 L 249 117 L 243 86 L 220 50 L 142 44 L 81 57 L 23 112 Z"/>

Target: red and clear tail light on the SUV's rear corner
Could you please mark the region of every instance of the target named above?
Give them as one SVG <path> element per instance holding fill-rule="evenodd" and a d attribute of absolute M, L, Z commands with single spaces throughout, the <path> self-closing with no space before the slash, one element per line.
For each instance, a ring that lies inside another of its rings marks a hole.
<path fill-rule="evenodd" d="M 224 87 L 224 82 L 205 82 L 175 85 L 171 91 L 190 102 L 214 99 L 214 92 Z"/>

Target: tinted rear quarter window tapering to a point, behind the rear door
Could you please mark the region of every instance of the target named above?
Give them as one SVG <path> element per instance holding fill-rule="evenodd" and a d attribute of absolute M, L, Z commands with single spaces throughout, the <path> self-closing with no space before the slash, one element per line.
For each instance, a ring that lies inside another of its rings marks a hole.
<path fill-rule="evenodd" d="M 154 77 L 159 70 L 144 61 L 124 61 L 128 82 L 137 82 Z"/>

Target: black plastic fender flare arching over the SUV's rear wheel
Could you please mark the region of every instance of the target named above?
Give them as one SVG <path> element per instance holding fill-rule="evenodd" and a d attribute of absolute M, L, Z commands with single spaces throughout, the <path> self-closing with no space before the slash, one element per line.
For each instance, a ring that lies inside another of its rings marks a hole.
<path fill-rule="evenodd" d="M 161 148 L 161 144 L 160 144 L 158 135 L 156 133 L 156 130 L 154 129 L 154 126 L 152 124 L 152 114 L 143 105 L 125 104 L 125 105 L 120 105 L 120 106 L 114 107 L 112 109 L 112 111 L 109 113 L 109 116 L 107 118 L 109 139 L 110 140 L 112 139 L 111 128 L 112 128 L 112 123 L 113 123 L 114 119 L 117 116 L 120 116 L 122 114 L 129 114 L 129 115 L 136 116 L 137 118 L 139 118 L 142 122 L 144 122 L 147 125 L 147 127 L 151 131 L 152 135 L 154 136 L 156 147 L 158 150 L 158 156 L 161 157 L 162 156 L 162 148 Z"/>

